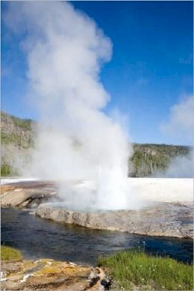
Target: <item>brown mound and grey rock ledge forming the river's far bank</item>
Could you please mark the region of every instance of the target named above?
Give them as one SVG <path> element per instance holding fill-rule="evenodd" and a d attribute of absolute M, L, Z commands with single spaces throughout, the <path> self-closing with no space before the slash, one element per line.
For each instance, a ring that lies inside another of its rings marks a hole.
<path fill-rule="evenodd" d="M 1 186 L 1 204 L 34 208 L 34 214 L 61 223 L 93 229 L 122 231 L 152 236 L 193 238 L 193 203 L 187 201 L 149 201 L 139 210 L 73 211 L 48 206 L 47 201 L 59 201 L 54 182 L 25 181 Z M 58 203 L 58 205 L 60 205 Z"/>

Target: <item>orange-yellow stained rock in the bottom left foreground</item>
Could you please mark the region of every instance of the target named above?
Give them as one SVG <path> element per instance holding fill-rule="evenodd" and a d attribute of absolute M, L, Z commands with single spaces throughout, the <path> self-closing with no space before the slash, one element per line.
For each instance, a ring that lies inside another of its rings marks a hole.
<path fill-rule="evenodd" d="M 2 290 L 105 290 L 101 268 L 51 259 L 2 262 Z"/>

